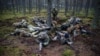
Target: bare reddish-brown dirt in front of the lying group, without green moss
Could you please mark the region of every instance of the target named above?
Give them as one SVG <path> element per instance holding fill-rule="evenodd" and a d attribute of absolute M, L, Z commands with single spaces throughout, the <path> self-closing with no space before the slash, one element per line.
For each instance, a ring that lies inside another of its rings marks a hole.
<path fill-rule="evenodd" d="M 78 51 L 75 53 L 77 56 L 95 56 L 95 52 L 91 50 L 91 45 L 88 45 L 86 39 L 78 37 L 74 42 L 74 48 Z M 67 50 L 68 45 L 61 45 L 58 42 L 51 42 L 47 47 L 45 47 L 42 52 L 38 52 L 38 44 L 33 38 L 22 38 L 11 37 L 5 40 L 1 45 L 8 45 L 11 48 L 19 48 L 21 51 L 21 56 L 62 56 L 64 50 Z M 74 50 L 73 50 L 74 51 Z"/>

